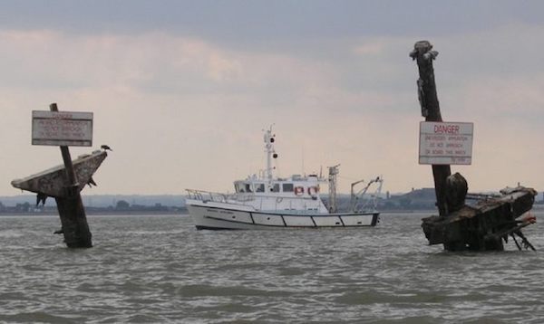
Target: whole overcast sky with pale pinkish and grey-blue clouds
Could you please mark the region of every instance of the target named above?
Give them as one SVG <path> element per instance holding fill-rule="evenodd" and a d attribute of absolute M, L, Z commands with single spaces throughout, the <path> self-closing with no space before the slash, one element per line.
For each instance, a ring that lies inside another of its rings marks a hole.
<path fill-rule="evenodd" d="M 112 154 L 83 194 L 232 191 L 341 164 L 340 190 L 432 186 L 418 165 L 417 66 L 429 40 L 442 117 L 474 122 L 470 191 L 544 188 L 544 2 L 2 1 L 0 195 L 62 163 L 32 146 L 31 111 L 94 112 Z M 93 148 L 71 148 L 73 157 Z"/>

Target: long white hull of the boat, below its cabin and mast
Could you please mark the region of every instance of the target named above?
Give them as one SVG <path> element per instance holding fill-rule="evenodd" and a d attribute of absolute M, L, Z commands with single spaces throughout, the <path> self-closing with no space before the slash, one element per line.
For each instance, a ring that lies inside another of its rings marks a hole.
<path fill-rule="evenodd" d="M 205 204 L 205 203 L 204 203 Z M 378 212 L 289 214 L 228 209 L 219 205 L 187 205 L 197 229 L 270 230 L 318 227 L 367 227 L 378 223 Z M 287 212 L 287 213 L 286 213 Z"/>

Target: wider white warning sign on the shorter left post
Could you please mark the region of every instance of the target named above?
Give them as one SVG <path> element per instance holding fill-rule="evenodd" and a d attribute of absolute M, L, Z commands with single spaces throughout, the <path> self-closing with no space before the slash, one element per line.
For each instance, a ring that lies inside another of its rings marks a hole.
<path fill-rule="evenodd" d="M 92 112 L 33 110 L 32 145 L 92 146 Z"/>

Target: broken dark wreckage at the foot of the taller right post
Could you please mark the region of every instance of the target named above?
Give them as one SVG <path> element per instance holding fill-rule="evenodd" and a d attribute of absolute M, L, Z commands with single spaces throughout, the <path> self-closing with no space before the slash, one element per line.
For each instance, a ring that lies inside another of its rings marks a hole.
<path fill-rule="evenodd" d="M 502 190 L 501 194 L 473 206 L 463 205 L 446 217 L 423 218 L 425 237 L 430 244 L 443 244 L 449 251 L 502 251 L 502 240 L 506 241 L 512 233 L 525 242 L 527 239 L 520 230 L 532 222 L 518 218 L 532 208 L 537 192 L 519 186 Z M 518 244 L 515 238 L 514 242 Z"/>

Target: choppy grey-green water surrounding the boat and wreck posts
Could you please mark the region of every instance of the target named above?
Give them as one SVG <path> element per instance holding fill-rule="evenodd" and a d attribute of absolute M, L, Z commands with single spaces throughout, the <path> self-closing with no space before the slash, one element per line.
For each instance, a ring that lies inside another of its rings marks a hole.
<path fill-rule="evenodd" d="M 0 217 L 0 322 L 544 322 L 542 224 L 524 230 L 537 252 L 446 253 L 427 215 L 279 232 L 91 215 L 84 250 L 53 235 L 57 216 Z"/>

